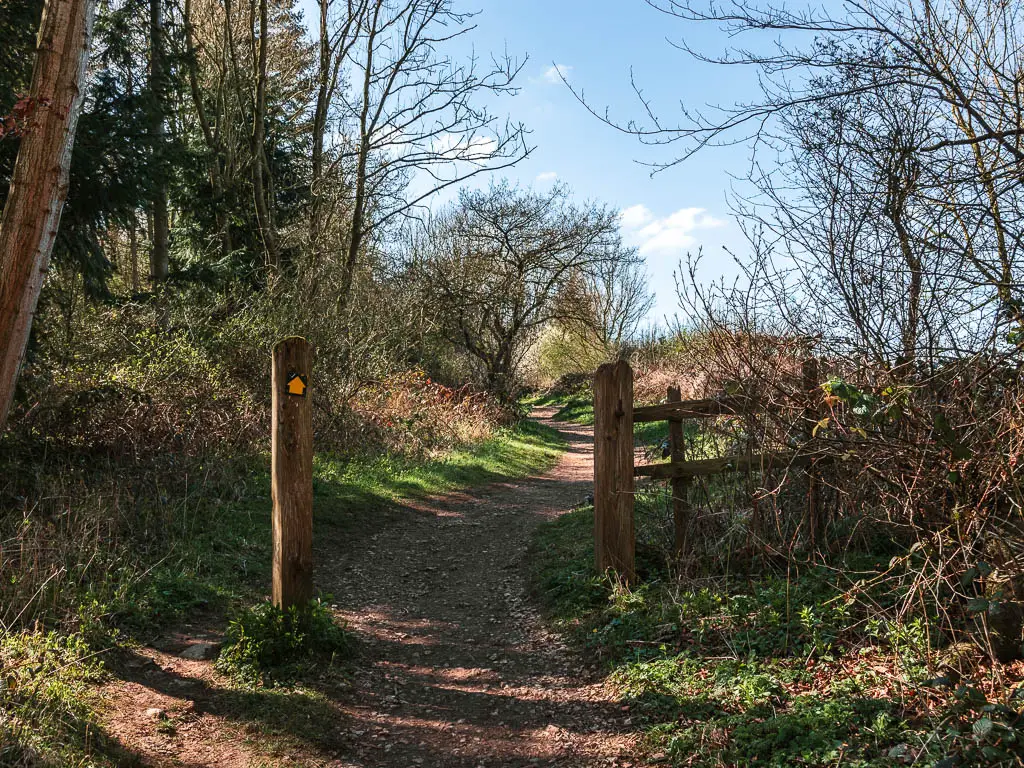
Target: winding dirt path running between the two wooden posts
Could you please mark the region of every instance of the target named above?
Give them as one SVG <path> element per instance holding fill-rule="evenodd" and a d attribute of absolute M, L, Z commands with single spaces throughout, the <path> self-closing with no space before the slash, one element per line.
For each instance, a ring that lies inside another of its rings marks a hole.
<path fill-rule="evenodd" d="M 544 632 L 526 599 L 535 527 L 582 503 L 590 429 L 542 477 L 424 504 L 338 557 L 333 589 L 373 659 L 350 702 L 343 766 L 630 765 L 629 712 Z M 346 697 L 347 698 L 347 697 Z"/>

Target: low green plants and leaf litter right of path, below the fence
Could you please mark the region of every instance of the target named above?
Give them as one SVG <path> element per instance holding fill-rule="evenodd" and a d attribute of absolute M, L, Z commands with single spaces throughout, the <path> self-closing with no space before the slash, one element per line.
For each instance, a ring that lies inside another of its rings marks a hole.
<path fill-rule="evenodd" d="M 662 514 L 656 498 L 638 503 L 638 530 Z M 637 553 L 638 585 L 598 577 L 584 507 L 541 526 L 531 579 L 548 621 L 609 671 L 651 761 L 1020 765 L 1024 701 L 932 687 L 924 624 L 880 622 L 847 595 L 866 561 L 683 585 L 648 542 Z"/>

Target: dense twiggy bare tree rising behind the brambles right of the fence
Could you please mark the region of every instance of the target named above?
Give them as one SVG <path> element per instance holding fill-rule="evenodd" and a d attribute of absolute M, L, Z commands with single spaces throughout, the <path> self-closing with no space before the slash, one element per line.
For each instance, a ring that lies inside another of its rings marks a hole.
<path fill-rule="evenodd" d="M 796 265 L 813 322 L 849 328 L 879 362 L 909 365 L 922 345 L 948 342 L 940 326 L 965 298 L 947 295 L 959 258 L 942 237 L 951 220 L 913 151 L 936 119 L 920 94 L 897 88 L 795 109 L 776 133 L 787 151 L 755 166 L 757 191 L 736 206 L 748 231 Z"/>

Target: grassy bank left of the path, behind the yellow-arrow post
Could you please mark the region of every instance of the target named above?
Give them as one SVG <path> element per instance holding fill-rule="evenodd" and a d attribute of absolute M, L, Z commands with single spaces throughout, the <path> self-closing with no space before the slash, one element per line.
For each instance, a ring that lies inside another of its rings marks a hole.
<path fill-rule="evenodd" d="M 367 531 L 400 517 L 407 500 L 540 472 L 561 449 L 557 433 L 524 422 L 429 459 L 317 456 L 314 543 L 357 547 Z M 46 480 L 37 457 L 4 458 L 8 468 L 17 465 L 35 472 L 37 482 Z M 39 505 L 26 510 L 14 531 L 30 555 L 27 547 L 48 545 L 59 552 L 40 559 L 38 572 L 25 567 L 31 557 L 8 564 L 9 573 L 23 575 L 11 575 L 0 588 L 6 628 L 0 637 L 0 766 L 132 764 L 104 737 L 94 713 L 95 686 L 118 674 L 112 663 L 121 650 L 181 623 L 222 632 L 234 616 L 251 635 L 269 632 L 280 621 L 261 607 L 271 555 L 265 457 L 218 461 L 205 467 L 205 475 L 194 465 L 187 481 L 167 480 L 157 495 L 136 490 L 139 500 L 151 500 L 145 506 L 129 501 L 144 473 L 123 466 L 118 473 L 102 463 L 76 468 L 67 459 L 59 465 L 63 476 L 46 480 L 51 489 L 63 490 L 62 507 L 45 515 Z M 118 490 L 121 501 L 115 504 Z M 100 523 L 127 515 L 133 516 L 130 528 L 104 529 Z M 4 544 L 5 552 L 14 551 L 13 539 Z M 238 667 L 252 672 L 245 664 Z M 257 680 L 242 675 L 238 684 Z M 243 698 L 264 709 L 281 703 L 273 691 Z M 289 707 L 301 707 L 316 695 L 292 698 Z"/>

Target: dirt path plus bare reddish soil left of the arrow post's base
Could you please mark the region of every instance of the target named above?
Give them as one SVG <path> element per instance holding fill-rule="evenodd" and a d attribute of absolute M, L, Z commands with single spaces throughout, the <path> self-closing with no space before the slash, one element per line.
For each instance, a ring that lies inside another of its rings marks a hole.
<path fill-rule="evenodd" d="M 361 641 L 341 682 L 239 691 L 182 657 L 196 638 L 168 638 L 105 687 L 106 734 L 154 766 L 634 765 L 630 712 L 527 596 L 530 535 L 592 486 L 591 430 L 553 413 L 535 418 L 568 450 L 543 476 L 418 502 L 357 547 L 323 543 L 317 587 Z"/>

